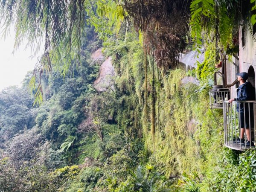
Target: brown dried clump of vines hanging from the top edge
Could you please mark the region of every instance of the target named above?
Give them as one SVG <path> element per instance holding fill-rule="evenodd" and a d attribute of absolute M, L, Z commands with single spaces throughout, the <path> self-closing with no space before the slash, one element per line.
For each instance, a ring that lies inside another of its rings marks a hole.
<path fill-rule="evenodd" d="M 124 0 L 124 9 L 143 32 L 145 50 L 154 55 L 158 67 L 177 66 L 189 32 L 189 5 L 190 0 Z"/>

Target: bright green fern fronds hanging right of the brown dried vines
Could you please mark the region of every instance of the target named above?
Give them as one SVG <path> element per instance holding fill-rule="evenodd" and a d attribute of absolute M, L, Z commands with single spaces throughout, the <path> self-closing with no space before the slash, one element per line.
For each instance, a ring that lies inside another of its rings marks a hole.
<path fill-rule="evenodd" d="M 251 2 L 255 3 L 255 0 Z M 215 41 L 216 48 L 226 51 L 232 46 L 233 32 L 236 32 L 234 29 L 244 17 L 237 11 L 240 6 L 238 0 L 193 0 L 190 26 L 194 49 L 201 48 L 203 33 L 209 41 Z M 256 23 L 256 15 L 251 17 L 251 23 Z"/>

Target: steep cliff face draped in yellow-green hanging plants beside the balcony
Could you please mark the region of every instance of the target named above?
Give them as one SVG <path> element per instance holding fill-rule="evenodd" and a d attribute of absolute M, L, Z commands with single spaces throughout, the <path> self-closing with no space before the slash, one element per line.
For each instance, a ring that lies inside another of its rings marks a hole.
<path fill-rule="evenodd" d="M 143 51 L 136 38 L 115 46 L 125 50 L 111 49 L 116 51 L 113 58 L 119 72 L 118 91 L 128 93 L 122 95 L 122 105 L 131 106 L 125 110 L 134 114 L 122 119 L 131 119 L 126 124 L 129 130 L 143 132 L 149 161 L 166 177 L 200 171 L 206 161 L 216 163 L 216 156 L 222 151 L 223 117 L 222 111 L 209 109 L 209 87 L 182 83 L 186 72 L 177 69 L 164 73 L 150 57 L 146 58 L 145 69 Z"/>

